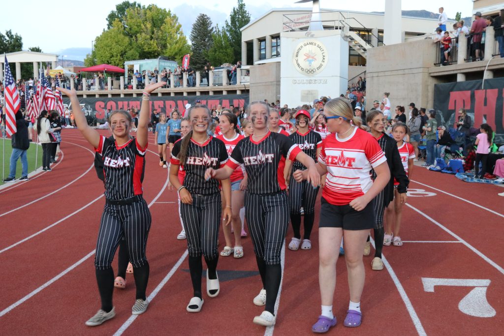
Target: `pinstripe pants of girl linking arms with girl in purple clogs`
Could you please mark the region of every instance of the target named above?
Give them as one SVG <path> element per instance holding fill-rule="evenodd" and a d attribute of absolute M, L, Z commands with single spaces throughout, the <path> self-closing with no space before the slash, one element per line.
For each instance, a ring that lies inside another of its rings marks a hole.
<path fill-rule="evenodd" d="M 280 263 L 280 249 L 289 226 L 289 198 L 285 190 L 273 194 L 245 192 L 245 217 L 254 252 L 266 264 Z"/>

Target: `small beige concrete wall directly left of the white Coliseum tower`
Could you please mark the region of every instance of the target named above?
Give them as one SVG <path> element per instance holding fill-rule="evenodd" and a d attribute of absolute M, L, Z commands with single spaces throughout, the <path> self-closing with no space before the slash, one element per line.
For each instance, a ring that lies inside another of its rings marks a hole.
<path fill-rule="evenodd" d="M 280 99 L 280 62 L 250 66 L 250 101 Z"/>

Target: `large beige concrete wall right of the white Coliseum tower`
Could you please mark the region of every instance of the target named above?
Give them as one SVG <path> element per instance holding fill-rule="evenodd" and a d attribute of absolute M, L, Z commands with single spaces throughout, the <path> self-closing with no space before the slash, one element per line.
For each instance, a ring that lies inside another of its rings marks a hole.
<path fill-rule="evenodd" d="M 390 92 L 392 106 L 407 106 L 413 102 L 417 107 L 431 108 L 434 84 L 440 83 L 429 74 L 436 51 L 432 40 L 367 50 L 366 100 L 381 101 L 383 93 Z"/>

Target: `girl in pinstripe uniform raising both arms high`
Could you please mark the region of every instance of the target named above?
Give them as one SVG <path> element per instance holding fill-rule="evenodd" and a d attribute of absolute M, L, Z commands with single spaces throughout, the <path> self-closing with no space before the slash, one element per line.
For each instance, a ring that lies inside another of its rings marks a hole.
<path fill-rule="evenodd" d="M 165 84 L 160 82 L 148 85 L 144 89 L 136 139 L 130 138 L 132 127 L 130 113 L 113 111 L 109 115 L 108 124 L 115 141 L 100 136 L 95 129 L 88 126 L 75 90 L 58 88 L 70 97 L 77 126 L 84 138 L 102 156 L 104 165 L 106 204 L 101 216 L 95 254 L 101 309 L 86 322 L 86 325 L 99 325 L 115 316 L 112 305 L 114 273 L 111 263 L 115 250 L 124 236 L 128 245 L 129 258 L 135 270 L 134 277 L 137 286 L 132 314 L 144 313 L 149 305 L 145 295 L 149 280 L 149 262 L 145 256 L 145 250 L 151 226 L 151 213 L 142 197 L 142 179 L 148 144 L 150 93 Z"/>

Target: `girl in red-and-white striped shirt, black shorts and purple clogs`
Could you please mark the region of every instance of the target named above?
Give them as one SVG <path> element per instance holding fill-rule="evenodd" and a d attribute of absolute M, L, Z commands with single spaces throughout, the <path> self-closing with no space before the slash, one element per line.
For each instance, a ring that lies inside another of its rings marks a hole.
<path fill-rule="evenodd" d="M 311 328 L 314 332 L 327 332 L 336 324 L 333 300 L 336 262 L 342 237 L 345 239 L 350 290 L 350 303 L 343 324 L 356 327 L 361 323 L 360 298 L 365 279 L 362 248 L 375 222 L 373 199 L 390 179 L 382 149 L 362 129 L 361 120 L 354 117 L 348 100 L 332 99 L 327 102 L 324 112 L 330 135 L 322 144 L 317 164 L 321 175 L 327 173 L 319 223 L 322 314 Z M 369 175 L 372 168 L 377 175 L 374 183 Z M 293 177 L 301 181 L 307 177 L 307 172 L 297 170 Z"/>

